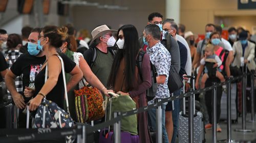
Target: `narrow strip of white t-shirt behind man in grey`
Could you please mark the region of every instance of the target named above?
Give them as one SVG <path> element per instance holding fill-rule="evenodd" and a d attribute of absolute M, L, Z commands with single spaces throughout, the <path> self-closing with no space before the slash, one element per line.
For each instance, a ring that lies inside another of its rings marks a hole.
<path fill-rule="evenodd" d="M 185 66 L 185 71 L 186 71 L 187 75 L 191 75 L 191 72 L 192 72 L 191 53 L 190 53 L 190 49 L 187 44 L 187 41 L 180 35 L 176 35 L 176 39 L 177 39 L 177 41 L 180 41 L 183 45 L 185 45 L 185 47 L 187 48 L 187 63 Z"/>

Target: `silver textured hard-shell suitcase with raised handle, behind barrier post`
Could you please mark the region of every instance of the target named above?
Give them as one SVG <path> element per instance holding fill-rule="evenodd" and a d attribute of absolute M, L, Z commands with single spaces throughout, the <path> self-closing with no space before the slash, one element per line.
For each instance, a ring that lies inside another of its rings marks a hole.
<path fill-rule="evenodd" d="M 191 78 L 191 77 L 190 77 Z M 193 83 L 195 83 L 195 78 L 193 79 Z M 193 85 L 194 87 L 195 85 Z M 195 89 L 195 88 L 194 88 Z M 180 111 L 179 116 L 179 130 L 178 130 L 178 138 L 179 142 L 188 142 L 188 111 L 186 111 L 186 105 L 183 99 L 183 111 Z M 194 98 L 195 103 L 195 98 Z M 194 104 L 195 109 L 195 104 Z M 204 129 L 204 121 L 203 114 L 200 111 L 195 111 L 194 115 L 194 142 L 205 142 L 205 129 Z"/>

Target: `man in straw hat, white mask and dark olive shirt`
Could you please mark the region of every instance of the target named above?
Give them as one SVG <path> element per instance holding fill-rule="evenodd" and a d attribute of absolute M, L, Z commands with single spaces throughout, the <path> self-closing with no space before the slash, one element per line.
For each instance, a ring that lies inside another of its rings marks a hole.
<path fill-rule="evenodd" d="M 115 52 L 110 49 L 116 43 L 114 34 L 116 30 L 110 30 L 107 25 L 100 25 L 92 31 L 92 41 L 90 48 L 83 53 L 84 59 L 90 66 L 93 73 L 107 87 Z"/>

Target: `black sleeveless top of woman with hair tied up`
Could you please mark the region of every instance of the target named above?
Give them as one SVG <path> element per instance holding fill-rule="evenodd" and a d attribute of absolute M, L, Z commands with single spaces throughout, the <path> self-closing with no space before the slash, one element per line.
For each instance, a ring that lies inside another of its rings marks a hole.
<path fill-rule="evenodd" d="M 66 73 L 70 73 L 76 66 L 76 64 L 71 61 L 68 56 L 63 53 L 59 53 L 63 62 L 64 62 L 64 69 Z M 42 86 L 45 84 L 45 73 L 46 67 L 42 69 L 35 77 L 35 94 L 36 96 L 39 91 L 41 90 Z M 62 70 L 59 74 L 57 84 L 55 87 L 46 95 L 46 99 L 55 102 L 59 107 L 63 109 L 64 107 L 64 97 L 65 97 L 65 90 L 63 84 L 63 76 Z"/>

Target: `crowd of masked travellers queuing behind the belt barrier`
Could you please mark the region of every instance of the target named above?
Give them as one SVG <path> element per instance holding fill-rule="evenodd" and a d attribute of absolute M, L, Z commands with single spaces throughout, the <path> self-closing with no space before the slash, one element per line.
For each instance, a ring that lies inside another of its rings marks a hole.
<path fill-rule="evenodd" d="M 158 13 L 148 15 L 143 32 L 131 24 L 112 30 L 108 25 L 99 25 L 91 32 L 82 30 L 76 38 L 71 24 L 47 25 L 42 28 L 26 26 L 22 36 L 0 30 L 0 72 L 5 80 L 8 95 L 20 110 L 19 128 L 26 127 L 22 113 L 28 102 L 29 110 L 35 111 L 42 99 L 51 100 L 65 109 L 67 84 L 70 115 L 74 121 L 75 95 L 79 81 L 88 83 L 101 91 L 103 98 L 108 92 L 130 96 L 137 107 L 153 104 L 154 99 L 179 96 L 182 89 L 169 92 L 168 77 L 171 67 L 185 80 L 185 91 L 193 86 L 203 89 L 212 80 L 224 82 L 237 71 L 255 70 L 255 42 L 249 31 L 242 27 L 228 29 L 228 39 L 222 38 L 222 27 L 205 25 L 205 38 L 196 42 L 196 35 L 185 31 L 185 25 L 175 19 L 163 19 Z M 143 53 L 141 66 L 137 56 Z M 63 59 L 61 69 L 58 55 Z M 157 91 L 155 98 L 147 100 L 146 90 L 152 86 L 151 63 L 156 68 Z M 247 69 L 243 69 L 247 65 Z M 45 81 L 46 66 L 48 79 Z M 62 72 L 65 72 L 64 83 Z M 193 85 L 185 75 L 197 75 Z M 226 92 L 223 85 L 222 90 Z M 220 119 L 222 90 L 217 93 L 217 122 Z M 201 93 L 200 102 L 206 106 L 205 128 L 211 128 L 211 97 Z M 209 93 L 211 95 L 211 93 Z M 179 128 L 180 100 L 164 103 L 162 109 L 162 132 L 165 143 L 175 142 Z M 140 142 L 152 142 L 150 132 L 156 131 L 156 109 L 137 116 Z M 103 122 L 103 121 L 101 121 Z M 217 131 L 221 127 L 217 125 Z"/>

